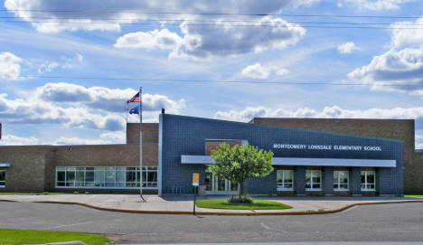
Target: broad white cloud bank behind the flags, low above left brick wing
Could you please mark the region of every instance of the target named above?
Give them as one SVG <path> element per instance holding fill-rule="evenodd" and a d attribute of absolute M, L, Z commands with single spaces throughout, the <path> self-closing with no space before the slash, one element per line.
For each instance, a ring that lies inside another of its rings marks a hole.
<path fill-rule="evenodd" d="M 31 94 L 32 96 L 27 96 Z M 0 94 L 0 121 L 10 124 L 60 124 L 65 127 L 121 131 L 125 128 L 124 108 L 136 90 L 85 88 L 71 83 L 47 83 L 24 92 L 24 99 L 8 99 Z M 31 98 L 31 99 L 27 99 Z M 157 118 L 161 108 L 178 113 L 185 100 L 169 99 L 159 94 L 143 94 L 143 114 Z M 131 105 L 132 106 L 132 105 Z M 134 105 L 135 106 L 135 105 Z M 129 117 L 136 120 L 137 117 Z M 104 135 L 102 140 L 122 140 L 122 135 Z"/>

